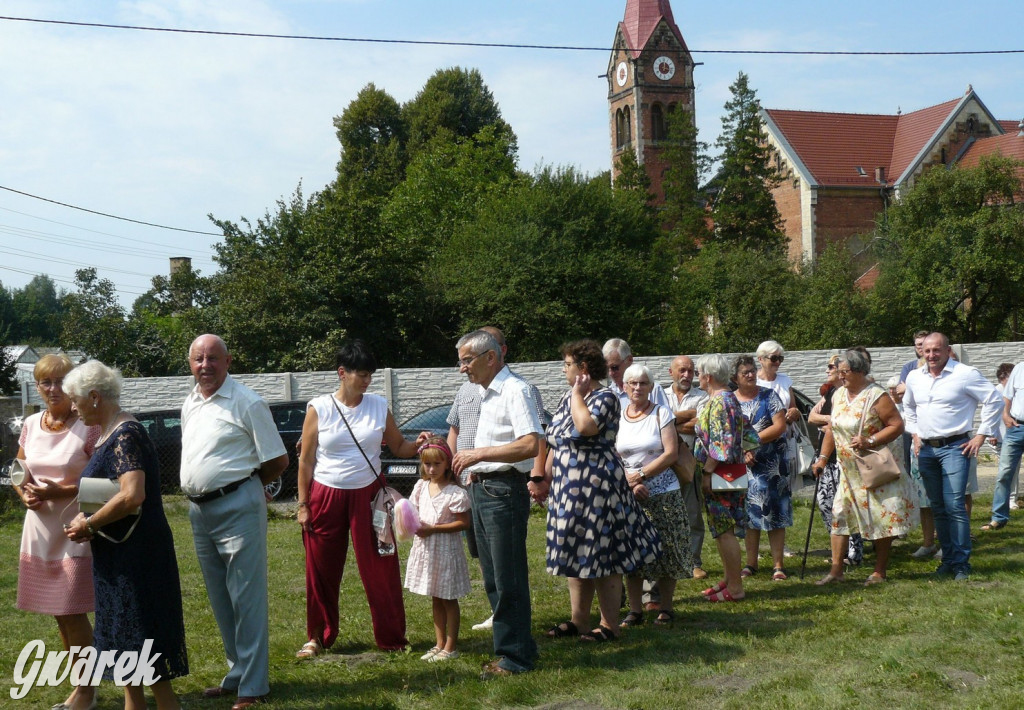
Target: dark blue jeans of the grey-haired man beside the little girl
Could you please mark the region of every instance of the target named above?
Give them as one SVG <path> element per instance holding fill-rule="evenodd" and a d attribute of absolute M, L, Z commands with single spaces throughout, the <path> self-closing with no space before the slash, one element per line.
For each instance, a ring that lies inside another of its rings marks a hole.
<path fill-rule="evenodd" d="M 483 589 L 494 612 L 495 656 L 514 673 L 534 669 L 537 643 L 530 633 L 526 520 L 529 492 L 523 473 L 488 478 L 469 487 L 473 532 L 480 553 Z"/>

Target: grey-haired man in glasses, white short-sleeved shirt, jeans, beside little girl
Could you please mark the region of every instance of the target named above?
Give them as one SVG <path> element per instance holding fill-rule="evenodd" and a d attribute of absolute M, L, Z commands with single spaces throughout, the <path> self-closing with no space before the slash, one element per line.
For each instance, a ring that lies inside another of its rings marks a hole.
<path fill-rule="evenodd" d="M 470 472 L 473 531 L 480 555 L 483 588 L 494 613 L 494 661 L 483 678 L 534 669 L 537 643 L 530 633 L 526 479 L 542 435 L 541 419 L 529 385 L 512 376 L 501 346 L 485 331 L 473 331 L 457 343 L 459 370 L 480 387 L 480 417 L 471 449 L 452 461 L 456 475 Z"/>

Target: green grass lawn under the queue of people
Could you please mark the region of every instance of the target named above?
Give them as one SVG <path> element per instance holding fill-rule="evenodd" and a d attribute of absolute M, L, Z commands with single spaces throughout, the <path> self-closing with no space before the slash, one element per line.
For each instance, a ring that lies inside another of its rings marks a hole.
<path fill-rule="evenodd" d="M 184 598 L 191 674 L 174 681 L 187 707 L 227 708 L 204 700 L 225 667 L 180 499 L 165 499 L 174 529 Z M 987 520 L 988 497 L 976 497 L 972 529 Z M 797 502 L 788 545 L 803 547 L 809 507 Z M 490 657 L 489 632 L 469 627 L 489 614 L 479 570 L 473 593 L 463 600 L 462 657 L 427 664 L 419 656 L 433 644 L 428 597 L 408 594 L 410 654 L 382 654 L 373 645 L 366 598 L 351 558 L 341 594 L 342 633 L 332 653 L 300 662 L 305 640 L 305 582 L 299 528 L 294 519 L 270 520 L 270 684 L 281 708 L 1013 708 L 1024 691 L 1024 513 L 1009 527 L 982 533 L 968 583 L 936 582 L 936 562 L 918 561 L 920 531 L 893 548 L 889 584 L 865 588 L 873 557 L 843 585 L 812 584 L 827 567 L 827 538 L 815 521 L 806 579 L 800 559 L 788 560 L 791 579 L 771 582 L 763 539 L 761 573 L 749 580 L 746 599 L 711 604 L 701 582 L 681 582 L 672 629 L 650 624 L 614 643 L 552 641 L 543 631 L 567 618 L 563 579 L 544 571 L 544 512 L 530 519 L 530 582 L 537 671 L 481 682 Z M 20 513 L 0 518 L 0 707 L 49 707 L 65 688 L 37 687 L 24 701 L 9 699 L 15 660 L 26 642 L 42 638 L 59 648 L 56 624 L 14 609 Z M 409 543 L 401 554 L 409 552 Z M 711 581 L 721 563 L 710 536 L 703 559 Z M 595 604 L 596 612 L 596 604 Z M 596 623 L 596 617 L 595 617 Z M 119 688 L 100 687 L 100 708 L 122 707 Z"/>

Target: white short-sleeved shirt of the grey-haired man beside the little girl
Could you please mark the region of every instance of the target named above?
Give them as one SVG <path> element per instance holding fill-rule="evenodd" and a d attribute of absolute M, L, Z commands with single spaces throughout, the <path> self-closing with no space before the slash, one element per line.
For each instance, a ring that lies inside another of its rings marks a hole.
<path fill-rule="evenodd" d="M 474 449 L 500 447 L 527 434 L 544 435 L 541 417 L 529 391 L 530 385 L 514 377 L 503 367 L 486 387 L 480 390 L 480 420 L 477 423 Z M 526 472 L 534 465 L 532 457 L 513 464 L 481 461 L 470 467 L 473 471 L 493 471 L 508 465 Z"/>

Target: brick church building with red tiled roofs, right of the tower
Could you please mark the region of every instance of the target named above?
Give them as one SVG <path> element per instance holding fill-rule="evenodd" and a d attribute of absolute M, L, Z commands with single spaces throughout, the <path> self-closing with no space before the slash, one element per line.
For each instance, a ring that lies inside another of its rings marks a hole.
<path fill-rule="evenodd" d="M 970 86 L 959 98 L 908 114 L 765 109 L 761 116 L 783 177 L 773 193 L 793 261 L 813 260 L 835 242 L 856 251 L 889 201 L 929 167 L 977 165 L 993 153 L 1024 158 L 1018 123 L 997 120 Z"/>

